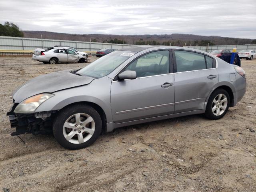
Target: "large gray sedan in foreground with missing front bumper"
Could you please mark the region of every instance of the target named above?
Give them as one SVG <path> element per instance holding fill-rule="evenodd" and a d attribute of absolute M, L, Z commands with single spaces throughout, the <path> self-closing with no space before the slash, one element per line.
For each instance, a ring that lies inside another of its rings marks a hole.
<path fill-rule="evenodd" d="M 53 132 L 60 145 L 79 149 L 102 130 L 192 114 L 222 118 L 245 92 L 236 65 L 190 48 L 141 46 L 33 78 L 14 91 L 7 115 L 12 136 Z"/>

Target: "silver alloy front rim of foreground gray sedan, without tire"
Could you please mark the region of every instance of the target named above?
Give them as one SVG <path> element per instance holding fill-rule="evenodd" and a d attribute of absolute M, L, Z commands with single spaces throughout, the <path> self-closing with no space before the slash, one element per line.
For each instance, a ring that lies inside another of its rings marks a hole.
<path fill-rule="evenodd" d="M 73 144 L 81 144 L 88 141 L 94 131 L 94 119 L 85 113 L 77 113 L 70 116 L 63 125 L 64 138 Z"/>

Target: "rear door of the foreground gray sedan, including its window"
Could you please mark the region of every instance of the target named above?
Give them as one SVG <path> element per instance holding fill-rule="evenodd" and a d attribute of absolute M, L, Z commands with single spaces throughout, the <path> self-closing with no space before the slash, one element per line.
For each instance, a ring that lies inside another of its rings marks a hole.
<path fill-rule="evenodd" d="M 218 84 L 216 60 L 204 54 L 173 50 L 175 113 L 204 109 L 212 88 Z"/>

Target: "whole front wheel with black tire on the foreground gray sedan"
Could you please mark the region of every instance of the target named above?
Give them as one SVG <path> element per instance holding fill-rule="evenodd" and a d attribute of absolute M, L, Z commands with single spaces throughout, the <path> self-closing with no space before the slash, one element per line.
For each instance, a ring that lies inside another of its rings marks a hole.
<path fill-rule="evenodd" d="M 75 104 L 58 112 L 52 129 L 61 146 L 76 150 L 90 146 L 98 138 L 102 120 L 91 106 Z"/>

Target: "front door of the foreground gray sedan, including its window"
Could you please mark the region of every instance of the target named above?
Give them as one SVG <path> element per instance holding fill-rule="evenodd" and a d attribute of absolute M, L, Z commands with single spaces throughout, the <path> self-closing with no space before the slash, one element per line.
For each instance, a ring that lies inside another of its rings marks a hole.
<path fill-rule="evenodd" d="M 122 70 L 136 71 L 136 79 L 112 82 L 111 110 L 115 123 L 174 113 L 175 82 L 169 50 L 154 54 L 158 57 L 145 54 Z"/>

